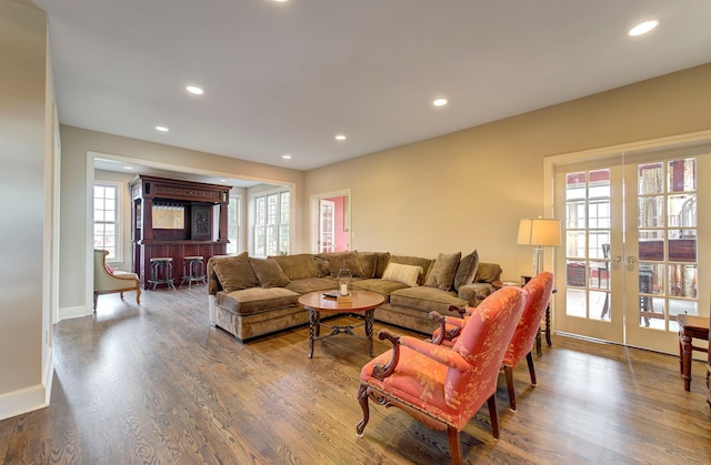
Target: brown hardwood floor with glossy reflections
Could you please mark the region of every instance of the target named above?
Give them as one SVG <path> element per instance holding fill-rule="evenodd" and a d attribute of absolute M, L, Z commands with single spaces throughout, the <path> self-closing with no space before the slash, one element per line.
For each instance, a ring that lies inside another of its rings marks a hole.
<path fill-rule="evenodd" d="M 467 463 L 711 463 L 702 362 L 687 393 L 674 356 L 561 336 L 543 347 L 538 387 L 515 370 L 515 413 L 500 377 L 501 439 L 485 405 L 462 432 Z M 57 325 L 51 405 L 0 422 L 0 462 L 449 463 L 447 434 L 397 408 L 371 405 L 356 437 L 363 341 L 307 351 L 306 327 L 244 345 L 211 327 L 204 286 L 147 291 L 140 307 L 102 295 L 94 316 Z"/>

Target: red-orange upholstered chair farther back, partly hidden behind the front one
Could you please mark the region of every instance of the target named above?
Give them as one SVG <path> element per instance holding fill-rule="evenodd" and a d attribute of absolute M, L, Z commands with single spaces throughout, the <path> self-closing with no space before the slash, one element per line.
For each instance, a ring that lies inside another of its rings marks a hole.
<path fill-rule="evenodd" d="M 535 337 L 540 333 L 541 320 L 543 313 L 548 307 L 551 295 L 553 293 L 553 274 L 544 271 L 537 276 L 533 276 L 523 290 L 527 292 L 527 300 L 521 313 L 521 320 L 519 321 L 517 328 L 511 337 L 509 347 L 503 356 L 502 368 L 507 378 L 507 387 L 509 391 L 509 407 L 515 412 L 515 386 L 513 384 L 513 370 L 523 357 L 529 365 L 529 374 L 531 376 L 531 384 L 537 385 L 535 368 L 533 366 L 533 343 Z M 457 310 L 457 309 L 450 309 Z M 467 321 L 470 319 L 468 311 L 473 309 L 460 310 L 463 317 L 458 319 L 453 316 L 440 316 L 440 327 L 432 334 L 432 341 L 435 344 L 453 345 L 458 335 L 462 328 L 467 325 Z"/>

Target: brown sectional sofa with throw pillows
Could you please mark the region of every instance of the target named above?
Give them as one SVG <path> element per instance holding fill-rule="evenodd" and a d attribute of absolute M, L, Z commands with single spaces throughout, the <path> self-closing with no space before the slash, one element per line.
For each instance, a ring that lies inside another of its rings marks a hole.
<path fill-rule="evenodd" d="M 353 276 L 353 289 L 385 297 L 375 310 L 377 321 L 423 334 L 437 327 L 431 311 L 459 316 L 449 306 L 477 306 L 494 291 L 502 271 L 495 263 L 480 263 L 477 251 L 435 259 L 358 251 L 213 256 L 207 266 L 210 323 L 242 342 L 307 324 L 299 296 L 336 290 L 343 266 Z"/>

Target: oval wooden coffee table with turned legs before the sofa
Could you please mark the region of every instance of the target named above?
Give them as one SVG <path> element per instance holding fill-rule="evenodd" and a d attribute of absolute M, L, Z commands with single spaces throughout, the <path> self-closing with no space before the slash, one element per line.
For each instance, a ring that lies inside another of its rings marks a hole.
<path fill-rule="evenodd" d="M 380 294 L 370 291 L 353 291 L 353 299 L 350 302 L 339 301 L 332 297 L 326 297 L 323 291 L 310 292 L 299 297 L 299 303 L 309 312 L 309 358 L 313 357 L 313 343 L 327 337 L 344 333 L 358 338 L 368 341 L 368 353 L 373 356 L 373 314 L 385 301 Z M 364 315 L 361 324 L 339 326 L 321 323 L 321 313 L 329 314 L 358 314 Z M 321 326 L 331 330 L 330 334 L 321 335 Z M 365 335 L 361 336 L 353 333 L 353 330 L 364 326 Z"/>

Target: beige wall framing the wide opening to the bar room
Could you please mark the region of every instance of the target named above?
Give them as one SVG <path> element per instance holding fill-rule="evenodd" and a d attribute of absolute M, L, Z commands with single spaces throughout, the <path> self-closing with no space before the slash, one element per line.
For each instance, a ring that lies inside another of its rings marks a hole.
<path fill-rule="evenodd" d="M 88 152 L 134 159 L 142 162 L 171 166 L 176 171 L 214 173 L 228 178 L 242 178 L 293 186 L 298 208 L 304 192 L 302 171 L 270 166 L 231 158 L 179 149 L 73 127 L 61 127 L 61 247 L 59 294 L 60 312 L 91 314 L 91 294 L 87 290 L 87 270 L 91 265 L 91 241 L 87 225 L 89 201 L 87 158 Z M 90 173 L 93 179 L 93 172 Z M 302 228 L 297 223 L 297 231 Z M 297 241 L 301 237 L 297 236 Z"/>

